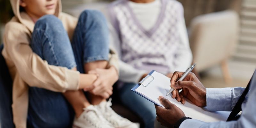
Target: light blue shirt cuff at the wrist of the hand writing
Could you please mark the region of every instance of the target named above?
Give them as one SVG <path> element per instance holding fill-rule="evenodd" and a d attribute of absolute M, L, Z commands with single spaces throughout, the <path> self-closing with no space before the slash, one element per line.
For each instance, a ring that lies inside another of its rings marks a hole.
<path fill-rule="evenodd" d="M 206 108 L 209 111 L 231 111 L 231 88 L 206 88 Z"/>

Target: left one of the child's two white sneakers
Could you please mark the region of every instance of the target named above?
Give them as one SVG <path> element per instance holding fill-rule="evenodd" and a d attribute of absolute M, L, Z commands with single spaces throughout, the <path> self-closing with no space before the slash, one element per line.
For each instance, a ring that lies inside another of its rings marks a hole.
<path fill-rule="evenodd" d="M 93 105 L 84 108 L 84 112 L 75 117 L 73 128 L 114 128 Z"/>

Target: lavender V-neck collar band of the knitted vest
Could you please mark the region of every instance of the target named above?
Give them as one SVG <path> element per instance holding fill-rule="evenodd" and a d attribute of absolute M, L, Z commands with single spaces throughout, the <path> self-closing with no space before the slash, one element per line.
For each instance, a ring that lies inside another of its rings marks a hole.
<path fill-rule="evenodd" d="M 132 8 L 130 7 L 130 5 L 128 4 L 128 0 L 125 1 L 125 6 L 127 7 L 128 11 L 131 13 L 132 19 L 134 20 L 135 24 L 139 27 L 139 29 L 148 37 L 151 37 L 154 32 L 159 28 L 160 24 L 162 23 L 163 19 L 164 19 L 164 13 L 165 13 L 165 8 L 166 8 L 166 0 L 161 0 L 161 11 L 158 15 L 158 19 L 156 20 L 156 23 L 154 24 L 154 26 L 152 28 L 150 28 L 149 30 L 146 30 L 139 22 L 139 20 L 137 19 L 137 17 L 135 16 L 134 12 L 132 11 Z"/>

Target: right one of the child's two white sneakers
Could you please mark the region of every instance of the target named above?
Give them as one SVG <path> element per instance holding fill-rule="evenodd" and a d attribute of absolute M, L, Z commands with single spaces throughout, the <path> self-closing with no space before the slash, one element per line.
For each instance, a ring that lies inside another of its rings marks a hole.
<path fill-rule="evenodd" d="M 99 105 L 95 105 L 95 107 L 115 128 L 138 128 L 137 124 L 119 116 L 112 108 L 110 108 L 110 106 L 112 106 L 111 100 L 112 99 L 110 98 L 108 102 L 101 102 Z"/>

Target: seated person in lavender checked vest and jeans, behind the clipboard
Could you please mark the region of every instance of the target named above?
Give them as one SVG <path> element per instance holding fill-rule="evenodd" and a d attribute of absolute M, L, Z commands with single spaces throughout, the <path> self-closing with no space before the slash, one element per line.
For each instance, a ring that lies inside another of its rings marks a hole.
<path fill-rule="evenodd" d="M 120 99 L 153 127 L 153 103 L 131 89 L 153 69 L 171 77 L 192 63 L 183 7 L 175 0 L 117 0 L 108 12 L 110 43 L 121 59 Z"/>

